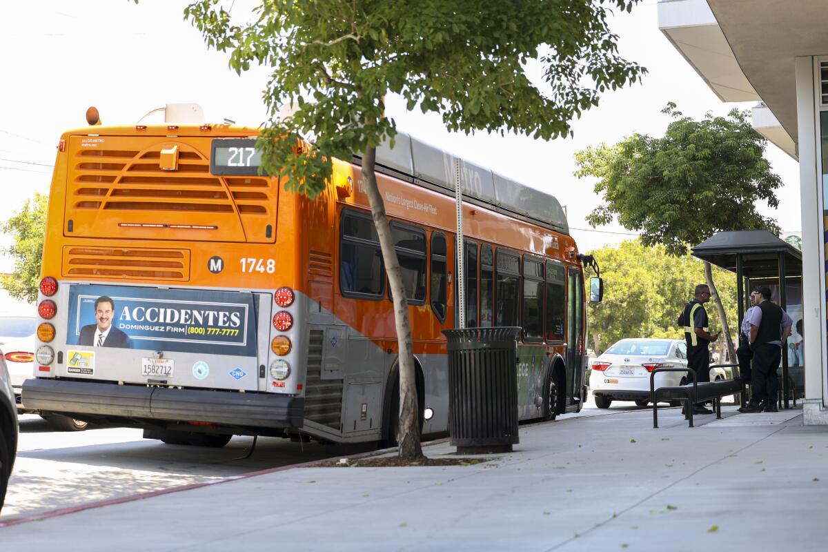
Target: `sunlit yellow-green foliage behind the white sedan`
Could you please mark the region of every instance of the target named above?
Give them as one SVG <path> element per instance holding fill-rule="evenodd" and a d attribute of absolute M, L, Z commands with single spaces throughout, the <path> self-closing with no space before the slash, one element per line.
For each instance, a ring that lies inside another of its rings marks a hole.
<path fill-rule="evenodd" d="M 702 262 L 689 255 L 672 257 L 666 247 L 645 246 L 638 240 L 589 254 L 600 260 L 604 278 L 604 300 L 590 304 L 587 311 L 590 346 L 596 354 L 622 338 L 684 337 L 676 319 L 696 285 L 705 282 Z M 714 266 L 713 277 L 726 315 L 735 319 L 734 274 Z M 707 314 L 710 328 L 719 329 L 716 310 L 708 308 Z"/>

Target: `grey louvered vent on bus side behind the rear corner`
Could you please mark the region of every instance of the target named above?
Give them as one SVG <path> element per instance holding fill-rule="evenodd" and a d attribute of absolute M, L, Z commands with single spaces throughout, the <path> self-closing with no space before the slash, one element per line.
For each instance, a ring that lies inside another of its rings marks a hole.
<path fill-rule="evenodd" d="M 342 380 L 323 380 L 321 329 L 310 330 L 308 369 L 305 387 L 305 418 L 341 431 Z"/>

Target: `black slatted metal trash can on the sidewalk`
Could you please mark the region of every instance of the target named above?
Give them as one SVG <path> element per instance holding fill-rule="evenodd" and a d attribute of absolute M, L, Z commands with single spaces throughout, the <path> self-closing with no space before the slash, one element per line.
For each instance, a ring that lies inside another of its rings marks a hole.
<path fill-rule="evenodd" d="M 511 452 L 517 438 L 519 327 L 446 329 L 449 435 L 457 452 Z"/>

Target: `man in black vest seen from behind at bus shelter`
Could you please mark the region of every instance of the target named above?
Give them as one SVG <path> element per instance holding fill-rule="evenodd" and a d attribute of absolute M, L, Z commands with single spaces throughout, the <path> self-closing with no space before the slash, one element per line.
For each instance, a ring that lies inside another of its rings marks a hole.
<path fill-rule="evenodd" d="M 777 412 L 777 368 L 782 360 L 782 342 L 791 334 L 793 319 L 771 302 L 771 289 L 757 289 L 758 308 L 750 313 L 750 348 L 753 350 L 752 396 L 739 412 Z"/>

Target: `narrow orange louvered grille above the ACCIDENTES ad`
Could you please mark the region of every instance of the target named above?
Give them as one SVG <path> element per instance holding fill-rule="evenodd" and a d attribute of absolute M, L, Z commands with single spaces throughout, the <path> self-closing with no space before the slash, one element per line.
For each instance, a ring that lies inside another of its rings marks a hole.
<path fill-rule="evenodd" d="M 185 249 L 65 246 L 63 276 L 188 281 L 190 252 Z"/>

